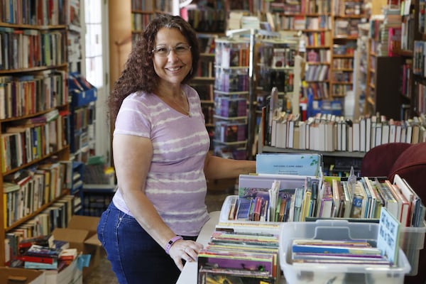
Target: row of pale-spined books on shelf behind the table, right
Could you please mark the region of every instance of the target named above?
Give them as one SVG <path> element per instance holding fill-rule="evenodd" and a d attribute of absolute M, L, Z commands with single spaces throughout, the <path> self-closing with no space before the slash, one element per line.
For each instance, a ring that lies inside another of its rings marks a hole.
<path fill-rule="evenodd" d="M 265 116 L 267 118 L 267 116 Z M 280 112 L 266 119 L 263 145 L 315 151 L 360 151 L 385 143 L 426 141 L 425 116 L 396 121 L 384 116 L 361 116 L 354 121 L 343 116 L 317 114 L 306 121 Z"/>

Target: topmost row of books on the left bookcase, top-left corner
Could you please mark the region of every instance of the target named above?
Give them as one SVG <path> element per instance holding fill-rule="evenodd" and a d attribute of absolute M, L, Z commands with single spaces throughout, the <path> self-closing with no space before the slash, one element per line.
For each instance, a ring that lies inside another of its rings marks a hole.
<path fill-rule="evenodd" d="M 0 18 L 4 23 L 33 26 L 65 25 L 70 18 L 65 0 L 2 1 Z"/>

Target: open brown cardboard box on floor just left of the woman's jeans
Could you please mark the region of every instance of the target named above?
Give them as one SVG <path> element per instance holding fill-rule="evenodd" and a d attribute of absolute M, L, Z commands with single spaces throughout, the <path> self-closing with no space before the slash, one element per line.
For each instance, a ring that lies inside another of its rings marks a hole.
<path fill-rule="evenodd" d="M 53 237 L 60 241 L 70 242 L 70 248 L 90 254 L 89 267 L 83 268 L 83 278 L 99 265 L 102 244 L 97 238 L 99 217 L 72 216 L 67 228 L 56 228 Z"/>

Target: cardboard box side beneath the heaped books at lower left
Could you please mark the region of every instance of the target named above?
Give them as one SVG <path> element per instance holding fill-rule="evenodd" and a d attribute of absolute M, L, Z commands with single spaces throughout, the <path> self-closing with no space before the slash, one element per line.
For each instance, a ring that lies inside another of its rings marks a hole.
<path fill-rule="evenodd" d="M 45 284 L 82 284 L 83 275 L 77 267 L 78 258 L 75 258 L 69 266 L 58 271 L 45 271 Z"/>

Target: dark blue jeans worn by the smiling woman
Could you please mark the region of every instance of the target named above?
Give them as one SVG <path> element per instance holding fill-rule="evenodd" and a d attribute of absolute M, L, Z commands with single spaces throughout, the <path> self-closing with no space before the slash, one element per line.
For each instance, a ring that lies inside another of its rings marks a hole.
<path fill-rule="evenodd" d="M 175 284 L 178 280 L 180 271 L 173 259 L 113 202 L 102 213 L 97 233 L 120 284 Z"/>

